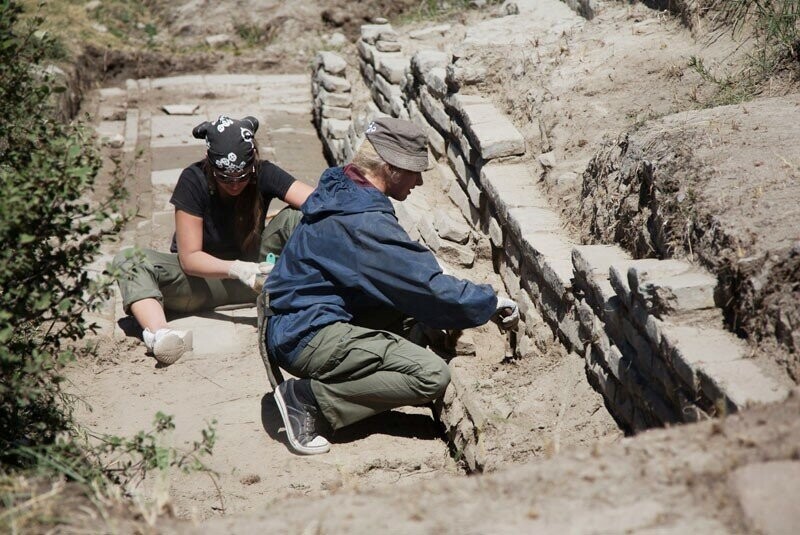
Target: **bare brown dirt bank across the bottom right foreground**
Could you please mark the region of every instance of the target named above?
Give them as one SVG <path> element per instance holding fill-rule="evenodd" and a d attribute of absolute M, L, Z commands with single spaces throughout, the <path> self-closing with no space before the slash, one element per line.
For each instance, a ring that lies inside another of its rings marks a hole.
<path fill-rule="evenodd" d="M 785 404 L 726 420 L 466 480 L 283 500 L 196 532 L 789 533 L 798 521 L 784 494 L 797 492 L 798 411 L 795 391 Z"/>

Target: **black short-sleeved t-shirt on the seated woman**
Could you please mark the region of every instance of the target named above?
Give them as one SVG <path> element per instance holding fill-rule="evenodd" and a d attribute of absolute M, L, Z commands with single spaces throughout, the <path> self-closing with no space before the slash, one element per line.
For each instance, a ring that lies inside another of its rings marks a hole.
<path fill-rule="evenodd" d="M 270 201 L 276 197 L 284 200 L 294 181 L 292 175 L 274 163 L 261 162 L 257 184 L 264 199 L 264 213 L 258 222 L 259 230 L 264 228 L 264 218 Z M 237 260 L 242 257 L 233 225 L 234 200 L 225 202 L 219 193 L 211 195 L 202 161 L 183 170 L 169 202 L 176 210 L 203 218 L 203 252 L 222 260 Z M 170 251 L 178 252 L 175 235 L 172 236 Z"/>

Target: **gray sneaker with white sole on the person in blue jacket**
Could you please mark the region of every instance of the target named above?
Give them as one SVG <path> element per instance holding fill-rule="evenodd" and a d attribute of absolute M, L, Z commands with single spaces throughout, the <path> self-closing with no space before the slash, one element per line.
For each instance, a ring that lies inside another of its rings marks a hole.
<path fill-rule="evenodd" d="M 283 418 L 289 445 L 297 453 L 317 455 L 330 451 L 331 445 L 317 431 L 317 408 L 307 405 L 295 394 L 295 379 L 289 379 L 275 389 L 275 403 Z"/>

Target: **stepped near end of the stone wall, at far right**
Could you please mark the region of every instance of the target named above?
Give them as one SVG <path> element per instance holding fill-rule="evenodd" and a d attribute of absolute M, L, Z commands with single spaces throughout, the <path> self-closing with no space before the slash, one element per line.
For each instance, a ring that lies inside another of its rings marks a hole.
<path fill-rule="evenodd" d="M 631 429 L 695 422 L 787 395 L 719 327 L 716 280 L 704 270 L 631 260 L 608 245 L 578 246 L 572 257 L 587 372 Z"/>

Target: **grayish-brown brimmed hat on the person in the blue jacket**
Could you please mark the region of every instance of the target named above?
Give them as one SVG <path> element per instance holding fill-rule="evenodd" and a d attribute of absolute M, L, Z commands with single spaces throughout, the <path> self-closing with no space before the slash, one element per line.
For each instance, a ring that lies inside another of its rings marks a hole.
<path fill-rule="evenodd" d="M 388 164 L 420 173 L 431 168 L 425 132 L 411 121 L 381 117 L 369 123 L 364 135 Z"/>

